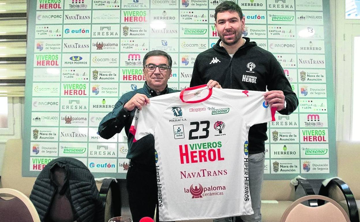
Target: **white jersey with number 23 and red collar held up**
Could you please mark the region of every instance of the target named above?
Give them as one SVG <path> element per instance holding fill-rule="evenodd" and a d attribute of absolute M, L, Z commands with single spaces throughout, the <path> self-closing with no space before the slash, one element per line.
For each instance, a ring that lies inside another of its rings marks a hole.
<path fill-rule="evenodd" d="M 150 98 L 136 111 L 134 141 L 155 138 L 160 221 L 253 214 L 248 132 L 275 120 L 263 94 L 203 85 Z"/>

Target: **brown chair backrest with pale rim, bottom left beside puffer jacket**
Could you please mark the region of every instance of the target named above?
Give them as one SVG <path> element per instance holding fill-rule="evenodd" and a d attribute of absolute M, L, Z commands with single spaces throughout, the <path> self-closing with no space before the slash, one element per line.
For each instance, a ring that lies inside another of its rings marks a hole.
<path fill-rule="evenodd" d="M 1 188 L 0 194 L 8 194 L 14 196 L 10 200 L 0 198 L 0 221 L 33 221 L 40 222 L 39 215 L 30 199 L 22 192 Z"/>

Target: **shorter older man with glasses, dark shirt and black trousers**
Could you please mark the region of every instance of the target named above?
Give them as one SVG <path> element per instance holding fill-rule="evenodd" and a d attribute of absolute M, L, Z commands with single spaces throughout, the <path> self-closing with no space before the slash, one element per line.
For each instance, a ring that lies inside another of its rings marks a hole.
<path fill-rule="evenodd" d="M 135 108 L 141 110 L 143 105 L 150 103 L 151 97 L 178 92 L 167 87 L 167 81 L 171 75 L 171 64 L 172 59 L 166 52 L 149 51 L 143 59 L 143 74 L 146 78 L 144 87 L 121 96 L 113 111 L 108 113 L 99 125 L 99 135 L 104 139 L 113 137 L 125 127 L 128 145 L 126 158 L 130 159 L 126 187 L 134 222 L 139 222 L 143 217 L 154 217 L 158 204 L 158 189 L 154 137 L 148 135 L 134 143 L 134 136 L 129 133 L 129 129 Z"/>

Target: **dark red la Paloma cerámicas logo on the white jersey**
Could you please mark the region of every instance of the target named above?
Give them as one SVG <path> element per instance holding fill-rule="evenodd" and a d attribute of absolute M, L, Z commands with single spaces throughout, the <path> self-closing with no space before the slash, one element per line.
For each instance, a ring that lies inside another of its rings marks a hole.
<path fill-rule="evenodd" d="M 220 196 L 224 195 L 223 190 L 226 190 L 225 186 L 209 186 L 203 187 L 201 184 L 194 187 L 194 184 L 190 186 L 189 189 L 184 188 L 185 193 L 190 193 L 192 195 L 192 199 L 194 198 L 203 198 L 205 196 Z"/>

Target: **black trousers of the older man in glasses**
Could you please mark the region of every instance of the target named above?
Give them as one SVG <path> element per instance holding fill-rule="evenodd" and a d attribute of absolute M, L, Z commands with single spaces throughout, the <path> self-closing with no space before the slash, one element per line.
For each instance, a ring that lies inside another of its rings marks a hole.
<path fill-rule="evenodd" d="M 154 218 L 158 209 L 156 168 L 130 163 L 126 175 L 126 189 L 129 194 L 129 205 L 133 222 L 143 217 Z M 159 222 L 159 210 L 156 221 Z"/>

